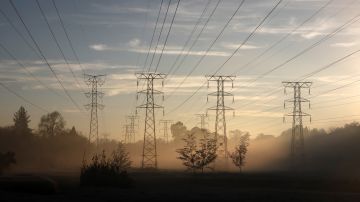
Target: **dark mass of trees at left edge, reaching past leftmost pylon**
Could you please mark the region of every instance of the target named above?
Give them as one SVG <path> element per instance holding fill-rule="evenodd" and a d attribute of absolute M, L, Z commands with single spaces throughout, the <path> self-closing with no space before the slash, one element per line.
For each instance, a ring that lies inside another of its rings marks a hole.
<path fill-rule="evenodd" d="M 51 112 L 41 117 L 36 130 L 28 124 L 31 117 L 24 107 L 14 114 L 12 126 L 0 127 L 0 152 L 13 152 L 16 164 L 12 170 L 22 172 L 79 171 L 83 159 L 91 158 L 94 144 L 76 131 L 66 127 L 62 115 Z M 98 150 L 116 148 L 117 142 L 101 140 Z M 98 151 L 97 151 L 98 152 Z"/>

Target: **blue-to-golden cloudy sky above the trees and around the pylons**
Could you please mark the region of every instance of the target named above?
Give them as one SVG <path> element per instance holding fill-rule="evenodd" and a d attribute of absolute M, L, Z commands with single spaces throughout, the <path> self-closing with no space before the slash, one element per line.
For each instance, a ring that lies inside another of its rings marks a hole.
<path fill-rule="evenodd" d="M 1 126 L 11 125 L 22 105 L 31 128 L 57 110 L 67 127 L 87 135 L 90 112 L 84 105 L 90 100 L 84 92 L 90 88 L 84 73 L 104 74 L 99 131 L 121 140 L 126 116 L 144 101 L 144 95 L 136 99 L 144 84 L 137 85 L 135 73 L 156 69 L 166 75 L 164 86 L 154 85 L 164 92 L 164 100 L 155 97 L 164 106 L 164 115 L 156 112 L 157 130 L 161 119 L 199 126 L 195 114 L 216 106 L 216 97 L 207 95 L 217 84 L 207 85 L 205 77 L 213 74 L 236 76 L 233 88 L 225 83 L 234 95 L 225 104 L 235 109 L 235 116 L 226 112 L 228 132 L 279 135 L 291 127 L 291 117 L 283 117 L 291 111 L 284 100 L 293 92 L 284 94 L 282 81 L 313 82 L 310 94 L 302 91 L 311 101 L 303 110 L 312 115 L 304 126 L 331 128 L 360 118 L 358 0 L 54 0 L 65 30 L 53 1 L 12 2 L 31 36 L 10 2 L 0 1 Z M 138 115 L 136 138 L 142 139 L 144 111 Z M 213 131 L 214 111 L 207 120 Z"/>

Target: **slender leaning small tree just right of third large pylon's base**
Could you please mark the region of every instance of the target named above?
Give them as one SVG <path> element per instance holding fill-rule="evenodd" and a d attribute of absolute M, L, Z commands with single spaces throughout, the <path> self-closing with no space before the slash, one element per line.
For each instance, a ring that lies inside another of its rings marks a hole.
<path fill-rule="evenodd" d="M 235 166 L 242 171 L 242 167 L 245 165 L 245 158 L 247 153 L 247 147 L 249 146 L 250 135 L 244 134 L 240 137 L 240 144 L 235 148 L 235 151 L 230 154 L 230 157 Z"/>

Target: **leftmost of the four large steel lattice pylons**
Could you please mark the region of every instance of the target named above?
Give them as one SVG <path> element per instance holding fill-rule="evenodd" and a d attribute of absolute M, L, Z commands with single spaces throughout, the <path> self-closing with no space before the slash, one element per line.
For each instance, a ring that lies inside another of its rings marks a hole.
<path fill-rule="evenodd" d="M 102 110 L 104 105 L 98 103 L 98 99 L 101 99 L 104 93 L 98 91 L 98 87 L 102 86 L 105 82 L 105 75 L 89 75 L 85 74 L 85 83 L 91 87 L 91 92 L 85 93 L 87 98 L 90 98 L 91 102 L 85 105 L 87 110 L 90 110 L 90 132 L 89 142 L 93 139 L 96 141 L 96 145 L 99 144 L 99 127 L 98 127 L 98 109 Z"/>

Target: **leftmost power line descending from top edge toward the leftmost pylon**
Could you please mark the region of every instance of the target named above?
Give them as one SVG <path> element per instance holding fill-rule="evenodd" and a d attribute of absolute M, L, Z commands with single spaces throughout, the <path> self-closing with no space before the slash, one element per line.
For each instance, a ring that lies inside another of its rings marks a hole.
<path fill-rule="evenodd" d="M 26 32 L 28 33 L 28 35 L 30 36 L 32 42 L 35 44 L 36 49 L 39 51 L 43 61 L 46 63 L 46 65 L 48 66 L 48 68 L 50 69 L 50 71 L 52 72 L 52 74 L 54 75 L 54 77 L 56 78 L 57 82 L 59 83 L 59 85 L 61 86 L 61 88 L 63 89 L 63 91 L 65 92 L 66 96 L 70 99 L 70 101 L 74 104 L 74 106 L 79 110 L 82 111 L 81 108 L 79 107 L 79 105 L 75 102 L 75 100 L 71 97 L 70 93 L 68 92 L 68 90 L 65 88 L 65 86 L 63 85 L 62 81 L 59 79 L 58 75 L 56 74 L 56 72 L 54 71 L 54 69 L 51 67 L 50 63 L 48 62 L 48 60 L 46 59 L 44 53 L 41 51 L 39 44 L 36 42 L 36 40 L 34 39 L 33 35 L 30 32 L 30 29 L 28 28 L 28 26 L 26 25 L 25 21 L 23 20 L 23 18 L 20 15 L 20 12 L 17 10 L 15 4 L 12 2 L 12 0 L 9 0 L 11 7 L 14 9 L 16 15 L 18 16 L 18 18 L 20 19 L 21 23 L 24 25 Z"/>

